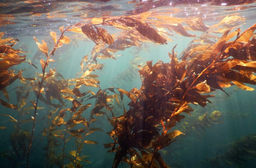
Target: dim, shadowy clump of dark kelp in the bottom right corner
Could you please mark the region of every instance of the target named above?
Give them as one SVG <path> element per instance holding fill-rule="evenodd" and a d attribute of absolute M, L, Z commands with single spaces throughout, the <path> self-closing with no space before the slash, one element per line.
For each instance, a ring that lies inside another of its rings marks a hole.
<path fill-rule="evenodd" d="M 244 167 L 245 164 L 256 157 L 256 135 L 251 134 L 237 140 L 223 155 L 209 158 L 208 162 L 214 168 Z"/>

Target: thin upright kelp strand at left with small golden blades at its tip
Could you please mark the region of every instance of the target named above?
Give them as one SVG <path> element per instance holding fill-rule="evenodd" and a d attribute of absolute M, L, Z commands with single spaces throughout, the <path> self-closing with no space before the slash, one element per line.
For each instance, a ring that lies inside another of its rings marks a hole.
<path fill-rule="evenodd" d="M 45 69 L 48 67 L 49 61 L 54 61 L 54 60 L 50 60 L 50 57 L 51 57 L 51 55 L 54 55 L 56 49 L 58 47 L 62 46 L 63 43 L 67 43 L 68 44 L 70 42 L 70 39 L 68 37 L 63 36 L 64 32 L 67 31 L 67 29 L 69 29 L 69 28 L 70 28 L 70 26 L 68 26 L 66 29 L 64 29 L 64 26 L 60 27 L 61 36 L 59 37 L 58 41 L 56 39 L 56 33 L 55 32 L 51 32 L 50 33 L 52 38 L 53 38 L 53 40 L 54 40 L 54 43 L 55 43 L 54 48 L 50 52 L 50 55 L 48 55 L 48 47 L 47 47 L 47 44 L 45 43 L 45 41 L 42 40 L 42 44 L 40 44 L 38 42 L 38 40 L 34 37 L 34 40 L 36 41 L 36 44 L 38 45 L 38 48 L 43 53 L 45 53 L 46 61 L 43 60 L 43 59 L 40 60 L 40 63 L 42 65 L 42 73 L 43 73 L 43 75 L 42 75 L 41 81 L 38 81 L 38 84 L 39 84 L 38 88 L 39 89 L 36 89 L 36 102 L 33 101 L 33 106 L 35 108 L 35 111 L 34 111 L 34 116 L 32 116 L 33 127 L 32 127 L 32 133 L 31 133 L 31 137 L 30 137 L 30 143 L 29 143 L 28 150 L 27 150 L 27 167 L 29 167 L 29 154 L 30 154 L 30 148 L 32 146 L 32 139 L 33 139 L 33 134 L 34 134 L 34 130 L 35 130 L 37 104 L 38 104 L 38 100 L 39 100 L 40 94 L 43 91 L 42 84 L 43 84 L 44 80 L 47 77 L 53 75 L 53 71 L 51 71 L 51 69 L 50 69 L 50 72 L 45 76 Z"/>

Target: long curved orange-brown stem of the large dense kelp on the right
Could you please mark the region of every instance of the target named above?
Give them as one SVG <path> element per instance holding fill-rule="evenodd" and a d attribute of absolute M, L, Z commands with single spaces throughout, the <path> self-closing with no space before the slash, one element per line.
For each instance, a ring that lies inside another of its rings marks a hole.
<path fill-rule="evenodd" d="M 252 29 L 252 28 L 255 27 L 255 26 L 256 26 L 256 24 L 254 24 L 253 26 L 251 26 L 249 29 Z M 248 30 L 249 30 L 249 29 L 248 29 Z M 193 82 L 191 83 L 191 85 L 189 85 L 188 89 L 185 91 L 185 93 L 184 93 L 184 95 L 183 95 L 183 97 L 182 97 L 182 99 L 181 99 L 179 105 L 175 108 L 175 110 L 173 111 L 173 113 L 172 113 L 171 116 L 169 117 L 169 120 L 170 120 L 170 119 L 174 116 L 174 114 L 180 109 L 180 107 L 182 106 L 182 103 L 183 103 L 183 101 L 184 101 L 184 99 L 185 99 L 185 97 L 186 97 L 188 91 L 193 87 L 193 85 L 194 85 L 195 82 L 199 79 L 199 77 L 202 76 L 202 75 L 204 74 L 204 72 L 205 72 L 206 70 L 208 70 L 216 61 L 219 61 L 219 60 L 222 58 L 223 54 L 224 54 L 225 52 L 228 52 L 228 50 L 230 49 L 230 47 L 231 47 L 240 37 L 242 37 L 242 36 L 245 34 L 245 32 L 246 32 L 246 31 L 244 31 L 240 36 L 238 36 L 225 50 L 223 50 L 223 51 L 222 51 L 221 53 L 219 53 L 216 57 L 214 57 L 213 61 L 212 61 L 206 68 L 204 68 L 204 70 L 202 70 L 201 73 L 193 80 Z M 167 131 L 169 130 L 168 127 L 167 127 L 167 126 L 168 126 L 168 123 L 169 123 L 169 122 L 166 122 L 166 123 L 165 123 L 165 125 L 164 125 L 164 127 L 163 127 L 163 131 L 162 131 L 162 133 L 161 133 L 161 136 L 157 139 L 157 142 L 156 142 L 155 148 L 154 148 L 154 153 L 153 153 L 152 158 L 151 158 L 151 161 L 150 161 L 150 163 L 149 163 L 149 165 L 148 165 L 149 168 L 151 167 L 151 165 L 152 165 L 152 163 L 153 163 L 153 160 L 154 160 L 154 157 L 155 157 L 155 155 L 156 155 L 156 152 L 158 151 L 158 143 L 160 142 L 160 140 L 162 139 L 162 137 L 163 137 L 165 134 L 167 134 Z"/>

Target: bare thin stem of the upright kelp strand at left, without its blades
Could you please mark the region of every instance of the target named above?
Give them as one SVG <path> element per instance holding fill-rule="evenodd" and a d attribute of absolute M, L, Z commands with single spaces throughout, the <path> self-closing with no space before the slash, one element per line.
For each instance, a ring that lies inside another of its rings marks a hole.
<path fill-rule="evenodd" d="M 60 42 L 60 40 L 63 38 L 64 32 L 67 31 L 67 29 L 69 29 L 72 25 L 68 26 L 65 30 L 61 31 L 61 36 L 59 37 L 57 43 L 55 44 L 55 47 L 52 49 L 52 51 L 50 52 L 50 55 L 48 55 L 47 53 L 45 53 L 47 60 L 45 61 L 44 67 L 42 68 L 42 72 L 43 72 L 43 76 L 41 81 L 39 82 L 39 90 L 37 91 L 37 95 L 36 95 L 36 103 L 33 102 L 33 105 L 35 107 L 35 111 L 34 111 L 34 116 L 33 116 L 33 127 L 32 127 L 32 133 L 31 133 L 31 137 L 30 137 L 30 143 L 28 146 L 28 151 L 27 151 L 27 168 L 29 168 L 29 154 L 30 154 L 30 149 L 32 146 L 32 139 L 33 139 L 33 135 L 34 135 L 34 131 L 35 131 L 35 124 L 36 124 L 36 110 L 37 110 L 37 104 L 38 104 L 38 100 L 40 97 L 40 93 L 41 93 L 41 89 L 42 89 L 42 83 L 44 81 L 44 77 L 45 77 L 45 69 L 48 66 L 49 63 L 49 58 L 51 57 L 51 55 L 54 55 L 56 49 L 58 48 L 58 44 Z"/>

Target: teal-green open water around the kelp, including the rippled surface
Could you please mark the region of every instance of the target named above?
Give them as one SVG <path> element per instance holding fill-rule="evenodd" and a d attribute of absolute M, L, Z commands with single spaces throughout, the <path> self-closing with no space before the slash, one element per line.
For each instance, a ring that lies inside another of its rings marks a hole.
<path fill-rule="evenodd" d="M 131 11 L 140 9 L 139 7 L 144 7 L 143 5 L 145 4 L 143 3 L 146 3 L 146 1 L 134 1 L 133 3 L 132 1 L 130 1 L 130 3 L 128 3 L 129 1 L 106 1 L 104 3 L 102 1 L 59 1 L 59 4 L 57 2 L 58 1 L 20 1 L 19 3 L 15 4 L 14 2 L 10 1 L 8 3 L 4 2 L 3 4 L 6 4 L 6 6 L 3 5 L 2 7 L 0 7 L 1 18 L 3 18 L 2 20 L 5 19 L 3 21 L 3 24 L 0 24 L 0 32 L 6 32 L 2 39 L 7 37 L 12 37 L 14 39 L 18 38 L 19 42 L 13 48 L 27 51 L 26 53 L 24 53 L 25 55 L 27 55 L 27 62 L 31 61 L 33 64 L 36 65 L 36 67 L 38 67 L 38 69 L 36 69 L 30 64 L 21 63 L 10 67 L 8 70 L 14 70 L 14 73 L 17 73 L 19 70 L 23 70 L 22 76 L 24 78 L 36 77 L 36 80 L 34 80 L 34 83 L 36 84 L 37 81 L 41 79 L 41 76 L 39 77 L 39 74 L 42 73 L 40 59 L 46 58 L 45 55 L 38 49 L 38 46 L 33 39 L 33 36 L 35 36 L 40 43 L 41 39 L 45 40 L 45 42 L 48 44 L 49 51 L 51 51 L 54 43 L 51 36 L 49 35 L 49 32 L 57 32 L 58 37 L 61 34 L 60 30 L 58 30 L 58 27 L 62 25 L 66 27 L 76 22 L 81 22 L 83 20 L 85 20 L 85 22 L 87 23 L 90 22 L 90 20 L 92 20 L 92 18 L 94 17 L 104 16 L 107 18 L 111 16 L 133 16 L 131 14 Z M 155 2 L 158 1 L 148 1 L 148 3 L 152 3 L 152 6 L 157 4 Z M 48 3 L 49 5 L 52 5 L 52 7 L 47 7 L 44 3 Z M 171 13 L 172 16 L 170 17 L 180 19 L 201 18 L 204 21 L 204 24 L 208 25 L 209 27 L 212 27 L 214 24 L 219 23 L 226 16 L 239 16 L 241 18 L 244 18 L 242 20 L 239 20 L 239 24 L 237 24 L 237 27 L 240 27 L 242 31 L 246 30 L 255 23 L 255 2 L 251 4 L 234 4 L 231 6 L 229 6 L 229 4 L 227 6 L 221 4 L 214 4 L 215 2 L 211 4 L 211 1 L 205 1 L 201 4 L 189 4 L 184 2 L 183 4 L 177 4 L 175 6 L 165 5 L 167 4 L 167 1 L 163 1 L 161 3 L 163 3 L 162 6 L 154 6 L 147 9 L 147 11 L 155 12 L 156 10 L 159 10 L 159 16 L 165 16 L 166 13 L 168 13 L 168 15 L 169 13 Z M 170 3 L 171 1 L 168 1 L 168 4 Z M 17 8 L 16 10 L 15 7 Z M 144 8 L 146 7 L 147 6 L 145 6 Z M 36 11 L 34 11 L 34 13 L 30 13 L 34 8 L 36 8 Z M 173 10 L 169 11 L 170 9 Z M 134 14 L 138 14 L 138 12 L 134 12 Z M 182 24 L 183 26 L 185 26 L 184 22 Z M 152 25 L 155 26 L 155 29 L 159 28 L 159 31 L 161 31 L 161 25 L 158 26 L 157 24 L 154 25 L 153 23 Z M 120 35 L 120 29 L 116 29 L 113 26 L 101 26 L 102 28 L 106 29 L 112 35 L 112 37 L 118 37 L 118 35 Z M 203 34 L 203 32 L 193 31 L 192 29 L 189 29 L 188 26 L 185 27 L 187 28 L 187 32 L 192 35 L 195 34 L 196 37 L 199 37 Z M 234 28 L 234 30 L 237 29 L 237 27 Z M 226 28 L 228 28 L 228 26 L 226 26 Z M 171 52 L 175 44 L 178 44 L 175 51 L 177 52 L 177 55 L 180 55 L 180 53 L 189 45 L 189 42 L 195 39 L 194 37 L 185 37 L 175 31 L 170 32 L 166 28 L 164 29 L 169 34 L 172 34 L 168 37 L 171 38 L 173 41 L 167 41 L 167 45 L 161 45 L 157 44 L 156 42 L 152 42 L 151 40 L 145 40 L 142 41 L 140 47 L 129 46 L 124 50 L 117 51 L 116 53 L 114 53 L 114 55 L 120 56 L 116 56 L 116 59 L 97 58 L 98 64 L 103 64 L 104 67 L 101 70 L 96 70 L 95 72 L 93 71 L 92 74 L 98 75 L 97 79 L 100 82 L 98 84 L 100 87 L 83 85 L 79 88 L 81 93 L 86 92 L 87 90 L 91 90 L 94 93 L 97 93 L 99 88 L 104 90 L 105 88 L 109 87 L 122 88 L 126 91 L 130 91 L 133 88 L 140 88 L 141 79 L 138 72 L 138 65 L 144 66 L 146 64 L 146 61 L 151 60 L 153 60 L 153 64 L 155 64 L 158 60 L 162 60 L 163 62 L 169 62 L 170 58 L 168 56 L 168 52 Z M 214 28 L 211 28 L 210 30 L 214 31 L 213 29 Z M 121 34 L 122 33 L 123 32 L 121 32 Z M 215 35 L 220 38 L 223 33 L 209 34 Z M 81 70 L 80 61 L 87 54 L 89 54 L 90 57 L 90 53 L 95 47 L 95 43 L 84 34 L 65 32 L 64 35 L 70 38 L 70 43 L 63 44 L 63 46 L 56 50 L 55 55 L 51 57 L 55 61 L 50 62 L 48 67 L 46 68 L 47 73 L 49 71 L 49 68 L 56 68 L 56 72 L 60 73 L 63 76 L 63 80 L 61 79 L 61 77 L 58 78 L 60 81 L 62 80 L 63 83 L 64 80 L 76 78 L 76 74 L 79 73 Z M 114 40 L 116 39 L 114 38 Z M 198 43 L 205 43 L 205 41 L 198 41 Z M 0 61 L 2 61 L 2 58 L 0 58 Z M 71 83 L 71 81 L 69 82 L 70 85 L 68 86 L 70 86 L 70 88 L 73 88 L 74 85 Z M 4 96 L 3 91 L 0 92 L 1 100 L 4 100 L 9 104 L 17 104 L 18 107 L 20 107 L 20 104 L 17 101 L 16 93 L 20 88 L 17 87 L 27 86 L 26 89 L 29 90 L 30 95 L 25 99 L 25 102 L 27 102 L 27 104 L 23 107 L 23 109 L 26 107 L 32 107 L 32 101 L 36 101 L 36 95 L 34 94 L 32 87 L 30 87 L 32 84 L 28 83 L 30 83 L 30 81 L 27 81 L 27 83 L 24 84 L 20 79 L 15 80 L 15 82 L 6 87 L 10 100 L 7 100 L 7 98 Z M 253 85 L 248 86 L 255 88 L 255 86 Z M 45 86 L 45 88 L 47 87 Z M 238 158 L 231 158 L 231 160 L 237 161 L 237 163 L 231 163 L 231 161 L 229 161 L 230 163 L 225 163 L 225 160 L 221 160 L 222 163 L 220 165 L 210 164 L 211 159 L 226 154 L 225 152 L 236 146 L 236 142 L 238 142 L 238 140 L 249 136 L 250 134 L 254 134 L 254 136 L 256 134 L 255 90 L 245 91 L 235 85 L 231 86 L 230 88 L 225 88 L 225 90 L 229 94 L 229 96 L 227 96 L 222 91 L 215 91 L 215 97 L 209 99 L 212 104 L 208 103 L 206 107 L 192 105 L 192 108 L 195 111 L 192 112 L 191 115 L 185 114 L 186 120 L 177 123 L 175 128 L 184 132 L 185 136 L 181 135 L 177 137 L 176 141 L 171 143 L 170 146 L 167 146 L 159 151 L 162 158 L 169 167 L 249 168 L 255 166 L 256 142 L 250 145 L 251 151 L 249 152 L 249 154 L 243 152 L 242 149 L 245 148 L 245 146 L 241 145 L 243 143 L 239 144 L 241 146 L 241 149 L 239 148 L 239 150 L 237 151 L 240 151 L 240 153 L 237 153 L 237 155 L 235 155 Z M 21 92 L 22 91 L 24 90 L 21 89 Z M 45 91 L 43 92 L 44 97 Z M 62 109 L 71 108 L 72 102 L 66 101 L 62 97 L 62 95 L 64 95 L 64 93 L 61 93 L 60 98 L 65 101 L 65 106 L 63 106 Z M 60 104 L 60 101 L 56 98 L 52 97 L 51 99 L 53 104 Z M 129 102 L 130 99 L 126 96 L 124 96 L 122 102 L 120 101 L 120 105 L 117 104 L 117 101 L 112 101 L 112 103 L 114 104 L 113 112 L 115 113 L 115 115 L 122 115 L 123 105 L 126 110 L 129 110 Z M 81 103 L 83 104 L 83 102 Z M 92 106 L 89 107 L 82 116 L 89 119 L 90 112 L 95 105 L 95 99 L 90 99 L 86 101 L 86 104 L 87 103 L 91 103 Z M 47 152 L 50 152 L 50 149 L 47 151 L 45 147 L 47 146 L 47 142 L 49 142 L 49 137 L 51 136 L 43 135 L 45 128 L 48 128 L 48 125 L 51 124 L 51 122 L 49 122 L 47 119 L 48 113 L 55 110 L 55 108 L 49 104 L 44 103 L 41 100 L 38 101 L 38 107 L 43 107 L 43 109 L 37 110 L 35 130 L 32 139 L 32 148 L 30 150 L 30 167 L 60 167 L 59 165 L 61 165 L 62 162 L 60 164 L 49 164 L 47 160 Z M 23 119 L 31 119 L 31 116 L 34 116 L 34 109 L 22 111 L 23 109 L 18 112 L 17 110 L 6 108 L 3 105 L 0 105 L 1 114 L 10 115 L 14 119 L 17 119 L 18 122 Z M 208 123 L 209 125 L 192 128 L 192 125 L 195 124 L 199 116 L 202 116 L 206 112 L 208 112 L 208 115 L 210 115 L 215 110 L 220 111 L 220 113 L 222 114 L 222 116 L 217 119 L 216 123 Z M 109 113 L 108 110 L 103 109 L 102 111 L 107 113 L 108 116 L 111 116 L 111 113 Z M 27 113 L 19 116 L 19 114 L 22 112 Z M 66 115 L 67 116 L 63 119 L 67 122 L 70 114 L 67 113 Z M 97 144 L 83 143 L 83 149 L 80 153 L 80 156 L 86 155 L 87 157 L 85 159 L 88 160 L 88 162 L 90 163 L 81 161 L 81 164 L 83 164 L 84 168 L 112 167 L 115 152 L 107 152 L 108 149 L 105 149 L 103 144 L 111 143 L 113 141 L 111 137 L 106 134 L 107 132 L 111 131 L 113 127 L 108 122 L 108 118 L 106 115 L 95 116 L 95 118 L 97 119 L 97 121 L 92 122 L 90 124 L 90 128 L 101 128 L 102 130 L 96 131 L 86 137 L 86 140 L 96 141 Z M 16 147 L 18 154 L 17 152 L 15 152 L 15 146 L 11 141 L 12 136 L 17 134 L 14 132 L 15 125 L 17 125 L 17 122 L 13 121 L 10 117 L 4 115 L 0 116 L 0 127 L 6 127 L 5 129 L 0 129 L 0 167 L 27 167 L 27 148 L 29 141 L 20 141 L 19 144 L 18 139 L 21 140 L 22 138 L 17 137 Z M 33 121 L 31 120 L 27 123 L 21 124 L 20 128 L 21 130 L 27 130 L 29 135 L 31 134 L 33 128 L 32 125 Z M 186 129 L 184 129 L 183 126 Z M 60 127 L 55 127 L 57 130 L 65 129 L 64 125 L 61 125 Z M 173 128 L 173 130 L 175 129 Z M 53 158 L 53 160 L 57 161 L 62 157 L 61 149 L 63 149 L 63 140 L 57 137 L 54 138 L 56 139 L 56 142 L 54 144 L 54 147 L 52 147 L 51 149 L 54 149 L 54 151 L 56 152 L 56 158 Z M 69 167 L 68 164 L 72 163 L 70 161 L 70 158 L 72 158 L 73 156 L 69 153 L 70 151 L 76 150 L 75 141 L 76 138 L 72 137 L 65 145 L 65 155 L 67 156 L 64 159 L 64 164 L 66 165 L 65 167 Z M 247 141 L 244 143 L 250 142 Z M 22 148 L 26 150 L 23 151 Z M 230 152 L 232 153 L 232 151 L 228 151 L 227 153 Z M 235 156 L 230 155 L 230 157 Z M 242 158 L 242 161 L 239 157 Z M 133 166 L 136 167 L 136 165 Z M 143 167 L 142 165 L 140 166 Z M 123 162 L 118 167 L 131 166 Z M 137 167 L 139 166 L 137 165 Z"/>

